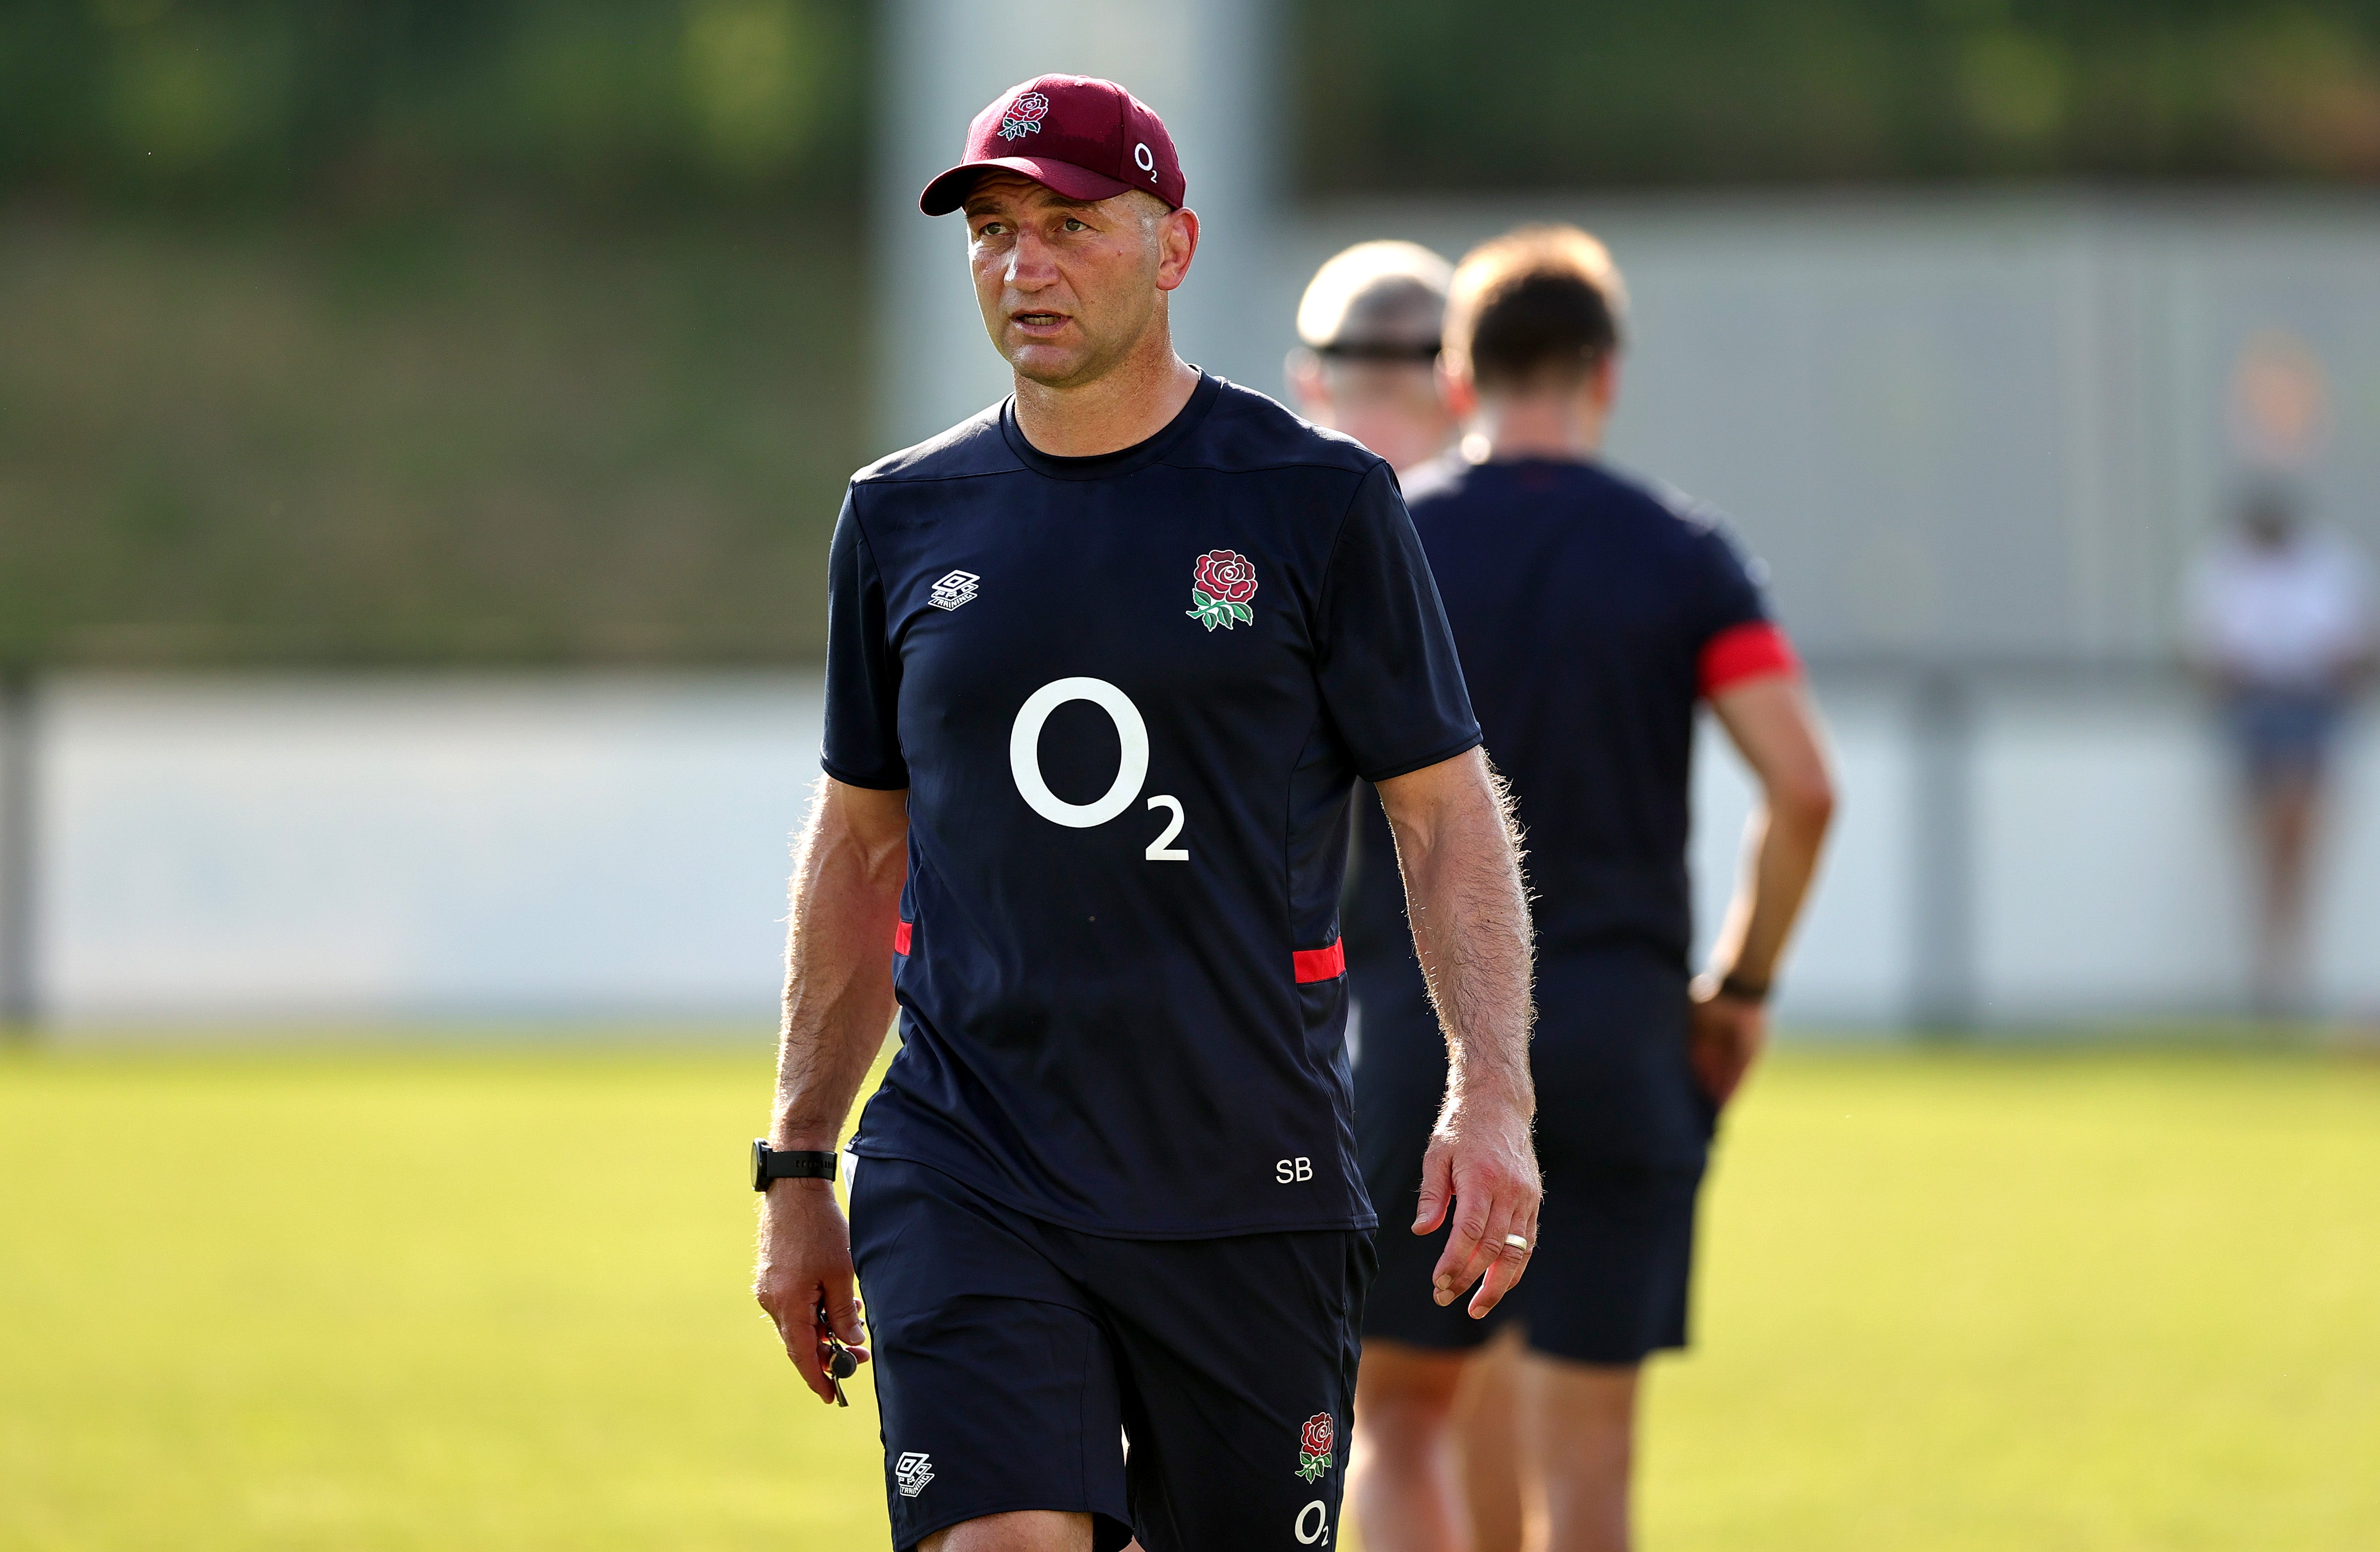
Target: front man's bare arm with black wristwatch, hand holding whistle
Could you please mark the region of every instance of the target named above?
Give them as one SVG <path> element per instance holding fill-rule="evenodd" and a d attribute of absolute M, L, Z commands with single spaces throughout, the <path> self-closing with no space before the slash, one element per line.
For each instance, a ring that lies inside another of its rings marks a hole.
<path fill-rule="evenodd" d="M 821 778 L 793 859 L 771 1147 L 831 1152 L 843 1140 L 859 1081 L 892 1024 L 892 926 L 907 869 L 909 795 Z M 802 1383 L 831 1402 L 821 1304 L 843 1343 L 859 1347 L 864 1331 L 852 1300 L 852 1235 L 828 1181 L 771 1181 L 752 1295 L 776 1321 Z"/>

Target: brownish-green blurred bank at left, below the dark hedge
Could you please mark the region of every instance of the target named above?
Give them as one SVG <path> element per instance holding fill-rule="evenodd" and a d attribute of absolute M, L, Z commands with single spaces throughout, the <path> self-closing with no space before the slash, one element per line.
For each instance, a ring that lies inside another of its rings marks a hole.
<path fill-rule="evenodd" d="M 0 662 L 785 662 L 864 459 L 840 231 L 0 221 Z"/>

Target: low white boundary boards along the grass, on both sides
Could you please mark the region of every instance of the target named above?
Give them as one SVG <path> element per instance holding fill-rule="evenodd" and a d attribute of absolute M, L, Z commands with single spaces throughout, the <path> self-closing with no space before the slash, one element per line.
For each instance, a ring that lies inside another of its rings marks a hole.
<path fill-rule="evenodd" d="M 1923 988 L 1940 807 L 1909 686 L 1821 676 L 1842 814 L 1780 1016 L 1890 1028 Z M 2230 788 L 2156 681 L 1985 683 L 1971 1000 L 1994 1024 L 2216 1014 L 2244 993 Z M 38 990 L 64 1024 L 776 1002 L 814 674 L 102 678 L 43 693 Z M 2354 726 L 2323 871 L 2328 1007 L 2380 1012 L 2380 721 Z M 1749 788 L 1706 731 L 1709 935 Z M 1956 919 L 1954 914 L 1952 919 Z"/>

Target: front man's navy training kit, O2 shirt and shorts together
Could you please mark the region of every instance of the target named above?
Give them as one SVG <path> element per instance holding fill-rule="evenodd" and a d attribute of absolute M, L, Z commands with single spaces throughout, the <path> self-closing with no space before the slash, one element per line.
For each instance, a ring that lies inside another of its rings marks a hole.
<path fill-rule="evenodd" d="M 1388 464 L 1214 376 L 1102 457 L 988 409 L 852 478 L 826 678 L 828 776 L 909 802 L 902 1050 L 852 1143 L 900 1545 L 1021 1507 L 1121 1545 L 1104 1454 L 1135 1407 L 1150 1552 L 1328 1545 L 1373 1224 L 1349 793 L 1478 745 Z M 1283 1257 L 1345 1297 L 1285 1297 Z M 962 1269 L 978 1302 L 952 1314 Z M 1169 1369 L 1188 1354 L 1221 1364 L 1197 1383 L 1223 1409 Z M 926 1443 L 959 1390 L 981 1426 Z M 1204 1433 L 1166 1426 L 1183 1407 Z M 1076 1445 L 1071 1481 L 1019 1464 Z M 928 1459 L 902 1481 L 904 1457 Z M 1211 1502 L 1180 1519 L 1185 1495 Z"/>

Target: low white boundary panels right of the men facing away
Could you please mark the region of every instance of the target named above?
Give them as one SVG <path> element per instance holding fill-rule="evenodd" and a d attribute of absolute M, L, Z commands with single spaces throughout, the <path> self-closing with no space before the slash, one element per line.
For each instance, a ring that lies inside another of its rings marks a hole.
<path fill-rule="evenodd" d="M 1909 686 L 1821 676 L 1842 809 L 1778 1016 L 1892 1026 L 1921 1007 L 1930 809 Z M 2221 1016 L 2247 1002 L 2247 852 L 2206 707 L 2125 676 L 1985 681 L 1971 731 L 1966 945 L 1973 1019 L 2040 1026 Z M 1704 943 L 1733 885 L 1749 778 L 1704 726 L 1695 893 Z M 1940 909 L 1940 902 L 1933 902 Z M 2349 726 L 2313 943 L 2320 1009 L 2380 1014 L 2380 719 Z"/>

